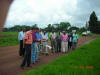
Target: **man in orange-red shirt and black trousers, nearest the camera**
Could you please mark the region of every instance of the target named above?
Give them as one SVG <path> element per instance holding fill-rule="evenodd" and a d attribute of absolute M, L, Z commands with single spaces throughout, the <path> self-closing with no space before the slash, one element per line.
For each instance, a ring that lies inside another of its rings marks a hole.
<path fill-rule="evenodd" d="M 21 68 L 24 69 L 25 64 L 27 63 L 27 67 L 30 67 L 31 64 L 31 44 L 32 44 L 32 31 L 33 28 L 26 32 L 24 37 L 25 44 L 25 56 L 22 61 Z"/>

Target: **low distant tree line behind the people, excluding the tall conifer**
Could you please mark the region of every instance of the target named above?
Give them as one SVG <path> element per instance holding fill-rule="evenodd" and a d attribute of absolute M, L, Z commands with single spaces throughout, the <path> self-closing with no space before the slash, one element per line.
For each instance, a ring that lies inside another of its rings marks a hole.
<path fill-rule="evenodd" d="M 38 27 L 37 24 L 34 24 L 32 26 L 27 26 L 27 25 L 15 25 L 10 28 L 3 28 L 4 32 L 19 32 L 21 31 L 22 28 L 25 28 L 26 31 L 30 30 L 32 27 Z M 38 27 L 39 28 L 39 27 Z M 79 28 L 76 26 L 72 26 L 69 22 L 60 22 L 59 24 L 48 24 L 47 27 L 45 28 L 40 28 L 42 31 L 67 31 L 67 32 L 72 32 L 72 30 L 76 30 L 77 32 L 84 32 L 86 31 L 85 27 Z"/>

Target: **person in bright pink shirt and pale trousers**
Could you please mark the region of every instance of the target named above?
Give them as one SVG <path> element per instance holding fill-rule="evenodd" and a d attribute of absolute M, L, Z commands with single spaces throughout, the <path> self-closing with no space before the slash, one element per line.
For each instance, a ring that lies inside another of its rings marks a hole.
<path fill-rule="evenodd" d="M 61 36 L 61 41 L 62 41 L 62 52 L 66 53 L 68 51 L 68 35 L 66 32 L 63 33 Z"/>

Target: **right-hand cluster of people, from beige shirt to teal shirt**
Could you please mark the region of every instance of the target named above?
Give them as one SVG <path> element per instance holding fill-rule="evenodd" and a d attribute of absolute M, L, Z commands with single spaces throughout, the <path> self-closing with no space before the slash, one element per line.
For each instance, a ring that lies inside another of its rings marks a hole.
<path fill-rule="evenodd" d="M 66 53 L 68 50 L 74 50 L 78 42 L 78 35 L 76 32 L 70 34 L 66 32 L 58 32 L 57 34 L 55 32 L 51 32 L 49 37 L 52 53 Z"/>

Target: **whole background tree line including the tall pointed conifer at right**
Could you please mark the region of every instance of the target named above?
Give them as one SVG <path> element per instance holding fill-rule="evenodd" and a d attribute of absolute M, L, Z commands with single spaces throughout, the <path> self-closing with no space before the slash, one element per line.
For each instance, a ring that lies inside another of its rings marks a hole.
<path fill-rule="evenodd" d="M 38 27 L 37 24 L 27 26 L 27 25 L 15 25 L 10 28 L 3 28 L 3 31 L 7 32 L 19 32 L 21 31 L 22 28 L 25 28 L 26 31 L 30 30 L 32 27 Z M 45 28 L 40 28 L 42 31 L 67 31 L 67 32 L 72 32 L 72 30 L 76 30 L 79 33 L 82 33 L 84 31 L 91 31 L 92 33 L 100 33 L 100 21 L 98 21 L 98 18 L 93 11 L 90 15 L 90 19 L 88 21 L 88 24 L 86 24 L 84 27 L 76 27 L 72 26 L 69 22 L 60 22 L 59 24 L 48 24 L 47 27 Z"/>

